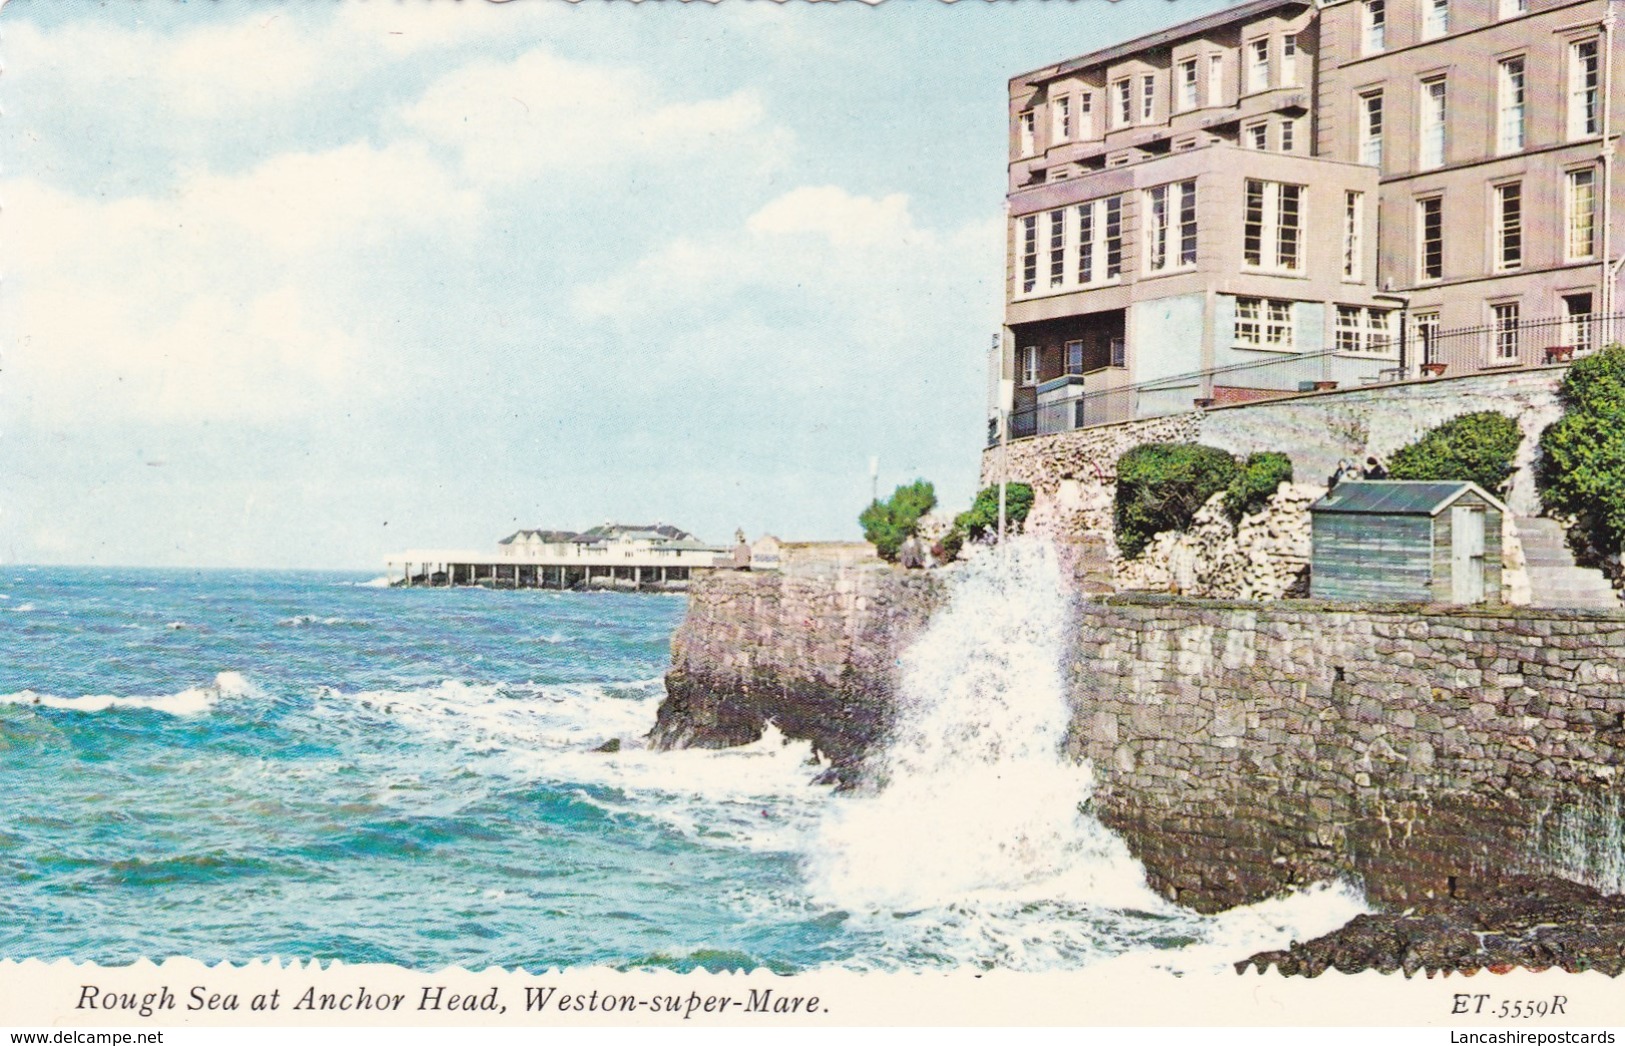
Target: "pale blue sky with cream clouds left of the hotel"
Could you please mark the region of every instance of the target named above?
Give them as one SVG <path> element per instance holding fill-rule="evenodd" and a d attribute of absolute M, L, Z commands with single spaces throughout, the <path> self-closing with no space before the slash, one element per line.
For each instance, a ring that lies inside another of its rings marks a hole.
<path fill-rule="evenodd" d="M 1008 80 L 1212 0 L 0 10 L 0 560 L 968 507 Z"/>

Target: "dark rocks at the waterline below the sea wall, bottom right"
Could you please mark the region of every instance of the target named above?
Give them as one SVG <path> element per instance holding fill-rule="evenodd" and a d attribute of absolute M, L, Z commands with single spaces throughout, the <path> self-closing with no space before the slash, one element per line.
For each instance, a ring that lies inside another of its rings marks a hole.
<path fill-rule="evenodd" d="M 1324 937 L 1242 960 L 1235 971 L 1250 966 L 1310 978 L 1326 970 L 1433 976 L 1519 966 L 1618 976 L 1625 970 L 1625 895 L 1604 895 L 1552 875 L 1476 882 L 1456 897 L 1355 916 Z"/>

